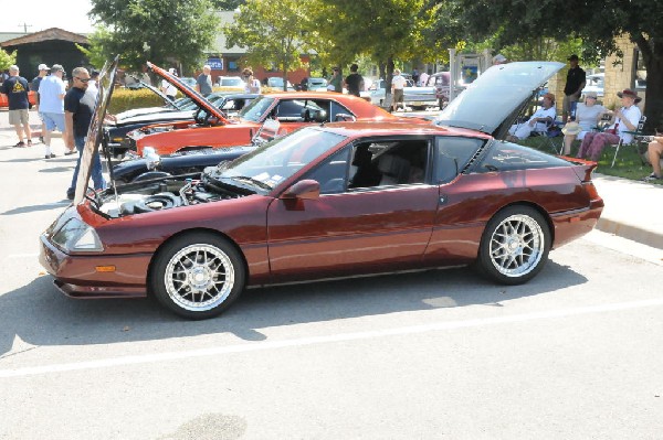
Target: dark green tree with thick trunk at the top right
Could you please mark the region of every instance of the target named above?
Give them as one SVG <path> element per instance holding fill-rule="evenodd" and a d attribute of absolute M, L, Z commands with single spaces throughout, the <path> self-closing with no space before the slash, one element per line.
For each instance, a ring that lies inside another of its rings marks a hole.
<path fill-rule="evenodd" d="M 494 37 L 502 45 L 532 41 L 546 35 L 557 41 L 570 36 L 583 42 L 583 58 L 619 54 L 615 39 L 629 35 L 646 67 L 648 117 L 645 130 L 663 127 L 663 39 L 661 22 L 663 2 L 651 0 L 585 0 L 568 2 L 541 0 L 524 3 L 519 0 L 436 0 L 444 11 L 454 15 L 439 17 L 435 31 L 440 35 L 456 37 L 470 35 L 476 41 Z M 514 17 L 518 22 L 514 25 Z M 462 25 L 450 26 L 450 20 Z M 566 61 L 561 58 L 560 61 Z"/>

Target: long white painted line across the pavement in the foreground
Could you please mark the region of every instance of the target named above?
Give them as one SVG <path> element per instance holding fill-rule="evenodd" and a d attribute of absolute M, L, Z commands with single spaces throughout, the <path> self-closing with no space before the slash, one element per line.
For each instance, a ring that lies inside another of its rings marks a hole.
<path fill-rule="evenodd" d="M 149 364 L 156 362 L 169 362 L 178 359 L 188 359 L 202 356 L 213 356 L 232 353 L 249 353 L 266 350 L 278 350 L 286 347 L 301 347 L 307 345 L 328 344 L 336 342 L 361 341 L 377 337 L 400 336 L 407 334 L 428 333 L 443 330 L 455 330 L 466 328 L 481 328 L 488 325 L 509 324 L 516 322 L 538 321 L 556 318 L 568 318 L 583 314 L 606 313 L 623 311 L 629 309 L 643 309 L 649 307 L 663 305 L 663 298 L 619 302 L 612 304 L 590 305 L 573 309 L 559 309 L 545 312 L 514 314 L 509 316 L 482 318 L 464 321 L 435 322 L 423 325 L 403 326 L 396 329 L 382 329 L 367 332 L 341 333 L 327 336 L 301 337 L 285 341 L 262 341 L 248 344 L 217 346 L 199 350 L 188 350 L 180 352 L 166 352 L 158 354 L 147 354 L 137 356 L 108 357 L 96 361 L 84 361 L 66 364 L 52 364 L 33 367 L 22 367 L 13 369 L 0 369 L 0 378 L 24 377 L 34 375 L 44 375 L 51 373 L 75 372 L 95 368 L 108 368 L 114 366 L 126 366 L 137 364 Z"/>

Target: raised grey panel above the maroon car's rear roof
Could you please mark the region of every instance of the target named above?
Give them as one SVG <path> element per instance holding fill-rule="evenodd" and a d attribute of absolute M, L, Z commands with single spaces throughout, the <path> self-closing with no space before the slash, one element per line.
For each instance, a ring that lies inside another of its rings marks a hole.
<path fill-rule="evenodd" d="M 522 107 L 565 65 L 522 62 L 492 66 L 440 112 L 435 124 L 504 137 Z"/>

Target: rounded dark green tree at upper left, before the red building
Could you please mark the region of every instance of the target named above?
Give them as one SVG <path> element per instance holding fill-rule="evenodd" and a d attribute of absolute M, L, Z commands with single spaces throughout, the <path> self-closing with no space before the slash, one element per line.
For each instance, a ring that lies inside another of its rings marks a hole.
<path fill-rule="evenodd" d="M 93 52 L 139 71 L 146 61 L 197 67 L 212 49 L 219 19 L 211 0 L 92 0 L 90 15 L 107 26 L 95 33 Z"/>

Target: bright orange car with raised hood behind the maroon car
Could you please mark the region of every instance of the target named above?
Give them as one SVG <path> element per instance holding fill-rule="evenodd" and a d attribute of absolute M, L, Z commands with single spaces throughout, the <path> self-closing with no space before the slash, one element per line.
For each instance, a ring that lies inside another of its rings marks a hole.
<path fill-rule="evenodd" d="M 152 64 L 149 66 L 157 75 L 164 75 L 161 68 Z M 199 106 L 194 124 L 187 121 L 146 126 L 127 133 L 131 139 L 130 148 L 138 155 L 143 154 L 145 147 L 152 147 L 159 154 L 170 154 L 182 149 L 248 144 L 270 117 L 276 117 L 282 122 L 284 132 L 304 125 L 330 122 L 339 115 L 349 115 L 357 120 L 397 118 L 355 96 L 301 92 L 264 95 L 244 107 L 236 118 L 229 119 L 199 94 L 178 84 L 177 78 L 172 81 L 180 92 Z"/>

